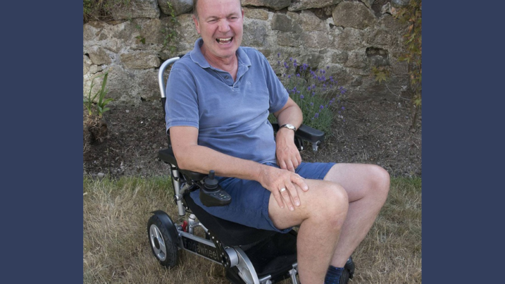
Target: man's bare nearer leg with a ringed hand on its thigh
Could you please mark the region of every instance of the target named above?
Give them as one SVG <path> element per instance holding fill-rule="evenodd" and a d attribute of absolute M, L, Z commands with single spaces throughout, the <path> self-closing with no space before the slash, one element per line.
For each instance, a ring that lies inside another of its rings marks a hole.
<path fill-rule="evenodd" d="M 281 209 L 271 195 L 268 213 L 277 228 L 300 224 L 297 240 L 300 282 L 321 284 L 334 255 L 349 202 L 339 184 L 311 179 L 306 182 L 309 190 L 304 192 L 298 188 L 301 205 L 295 211 Z"/>

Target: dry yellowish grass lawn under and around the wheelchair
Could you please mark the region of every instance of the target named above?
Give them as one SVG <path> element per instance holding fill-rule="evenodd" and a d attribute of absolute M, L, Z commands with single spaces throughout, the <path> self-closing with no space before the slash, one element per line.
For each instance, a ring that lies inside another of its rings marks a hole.
<path fill-rule="evenodd" d="M 83 283 L 229 283 L 220 265 L 186 251 L 173 269 L 157 263 L 147 220 L 157 209 L 176 218 L 171 195 L 168 177 L 85 177 Z M 421 283 L 421 197 L 420 178 L 392 179 L 384 208 L 353 254 L 351 284 Z"/>

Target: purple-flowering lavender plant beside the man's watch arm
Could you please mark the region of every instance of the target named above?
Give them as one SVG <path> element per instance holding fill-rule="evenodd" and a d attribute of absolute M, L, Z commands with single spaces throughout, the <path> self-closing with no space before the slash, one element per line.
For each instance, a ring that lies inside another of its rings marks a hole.
<path fill-rule="evenodd" d="M 328 76 L 326 70 L 329 66 L 326 69 L 312 70 L 307 64 L 300 64 L 292 57 L 289 61 L 281 62 L 280 56 L 280 53 L 277 53 L 279 60 L 271 65 L 284 79 L 281 81 L 284 81 L 289 96 L 302 109 L 303 123 L 326 134 L 332 134 L 335 116 L 345 122 L 345 107 L 341 96 L 346 89 L 339 86 L 333 76 Z M 271 122 L 275 122 L 275 117 L 271 116 Z"/>

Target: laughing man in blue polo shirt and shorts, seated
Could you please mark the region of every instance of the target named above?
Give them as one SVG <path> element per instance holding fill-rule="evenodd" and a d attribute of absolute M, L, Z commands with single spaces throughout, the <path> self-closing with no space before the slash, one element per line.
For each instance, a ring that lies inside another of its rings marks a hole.
<path fill-rule="evenodd" d="M 232 196 L 222 207 L 196 204 L 225 220 L 285 233 L 298 230 L 300 281 L 339 283 L 346 260 L 386 201 L 389 175 L 368 164 L 305 163 L 294 143 L 300 107 L 258 51 L 241 46 L 239 0 L 194 1 L 201 38 L 173 64 L 166 129 L 178 166 L 215 170 Z M 273 135 L 268 114 L 280 127 Z"/>

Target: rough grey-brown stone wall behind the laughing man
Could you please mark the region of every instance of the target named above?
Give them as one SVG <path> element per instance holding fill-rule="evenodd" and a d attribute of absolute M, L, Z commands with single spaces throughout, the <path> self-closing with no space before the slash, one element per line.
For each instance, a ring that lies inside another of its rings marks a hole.
<path fill-rule="evenodd" d="M 169 0 L 179 22 L 176 50 L 164 44 L 171 17 L 166 0 L 131 0 L 112 12 L 114 21 L 83 25 L 83 87 L 87 96 L 94 76 L 109 70 L 110 97 L 119 102 L 158 100 L 157 70 L 175 55 L 191 51 L 198 33 L 191 0 Z M 241 0 L 243 46 L 253 46 L 271 62 L 290 57 L 326 69 L 348 89 L 353 100 L 401 94 L 407 82 L 402 52 L 406 26 L 391 9 L 407 0 Z M 277 57 L 280 53 L 280 58 Z M 389 66 L 391 80 L 379 85 L 373 66 Z M 99 83 L 98 80 L 96 80 Z M 98 84 L 99 85 L 99 84 Z M 98 86 L 96 86 L 98 87 Z"/>

